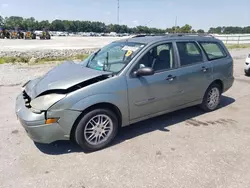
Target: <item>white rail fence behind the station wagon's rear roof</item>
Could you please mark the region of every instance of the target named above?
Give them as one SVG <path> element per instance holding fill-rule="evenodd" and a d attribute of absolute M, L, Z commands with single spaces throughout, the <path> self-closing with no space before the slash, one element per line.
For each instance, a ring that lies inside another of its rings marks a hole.
<path fill-rule="evenodd" d="M 250 34 L 213 34 L 225 44 L 250 44 Z"/>

